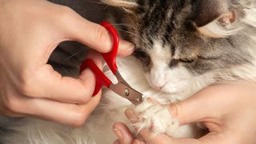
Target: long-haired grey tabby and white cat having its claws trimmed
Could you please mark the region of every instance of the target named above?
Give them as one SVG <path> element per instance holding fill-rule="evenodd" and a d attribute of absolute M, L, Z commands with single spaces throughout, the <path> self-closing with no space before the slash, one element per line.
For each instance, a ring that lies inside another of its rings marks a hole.
<path fill-rule="evenodd" d="M 161 104 L 182 101 L 218 82 L 256 79 L 256 2 L 254 0 L 102 0 L 122 38 L 134 42 L 129 58 L 118 58 L 118 68 L 134 89 Z M 113 78 L 104 67 L 106 75 Z M 2 143 L 112 143 L 113 122 L 130 123 L 123 111 L 131 103 L 103 90 L 102 102 L 84 126 L 23 118 Z M 149 108 L 145 110 L 145 108 Z M 175 138 L 197 137 L 197 126 L 178 126 L 163 107 L 143 102 L 141 126 Z M 153 110 L 153 111 L 150 111 Z M 153 113 L 157 112 L 157 113 Z M 166 116 L 154 117 L 163 112 Z M 195 111 L 196 113 L 196 111 Z M 150 118 L 143 118 L 149 114 Z M 159 123 L 148 122 L 158 118 Z M 170 125 L 166 125 L 169 123 Z M 174 125 L 172 125 L 174 123 Z M 160 129 L 162 127 L 162 129 Z M 200 130 L 199 130 L 200 131 Z"/>

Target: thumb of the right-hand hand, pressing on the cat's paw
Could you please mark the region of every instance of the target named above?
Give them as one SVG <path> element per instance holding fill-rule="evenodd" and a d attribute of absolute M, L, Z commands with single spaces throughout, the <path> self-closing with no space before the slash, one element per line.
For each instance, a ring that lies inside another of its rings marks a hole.
<path fill-rule="evenodd" d="M 174 102 L 170 104 L 170 114 L 178 119 L 180 125 L 218 118 L 221 116 L 220 113 L 225 113 L 224 87 L 222 85 L 206 87 L 184 101 Z"/>

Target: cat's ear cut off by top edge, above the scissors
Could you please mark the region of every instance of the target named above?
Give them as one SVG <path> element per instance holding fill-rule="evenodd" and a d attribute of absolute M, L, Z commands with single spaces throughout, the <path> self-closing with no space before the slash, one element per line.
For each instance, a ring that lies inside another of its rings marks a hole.
<path fill-rule="evenodd" d="M 101 2 L 109 6 L 122 7 L 127 10 L 138 7 L 137 0 L 101 0 Z"/>

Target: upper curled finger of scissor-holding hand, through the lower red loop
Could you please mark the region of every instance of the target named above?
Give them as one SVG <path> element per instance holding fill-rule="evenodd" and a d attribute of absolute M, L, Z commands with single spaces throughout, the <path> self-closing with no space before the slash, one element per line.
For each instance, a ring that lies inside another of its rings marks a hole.
<path fill-rule="evenodd" d="M 90 53 L 89 57 L 102 69 L 102 57 Z M 43 66 L 34 72 L 23 94 L 34 98 L 49 98 L 60 102 L 84 104 L 90 101 L 95 87 L 95 76 L 86 69 L 78 78 L 62 77 L 51 66 Z"/>

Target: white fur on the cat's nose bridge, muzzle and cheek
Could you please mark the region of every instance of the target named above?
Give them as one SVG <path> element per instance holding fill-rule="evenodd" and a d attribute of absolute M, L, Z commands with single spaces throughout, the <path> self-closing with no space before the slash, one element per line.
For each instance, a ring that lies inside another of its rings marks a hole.
<path fill-rule="evenodd" d="M 146 72 L 145 76 L 150 86 L 182 100 L 203 86 L 214 82 L 213 76 L 209 77 L 210 74 L 194 77 L 182 65 L 170 69 L 168 64 L 171 58 L 170 52 L 167 51 L 168 47 L 170 46 L 162 49 L 162 43 L 154 41 L 154 46 L 148 50 L 152 65 L 150 72 Z M 178 51 L 175 55 L 177 54 Z"/>

